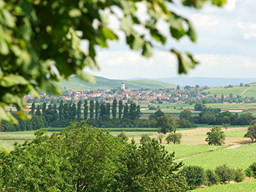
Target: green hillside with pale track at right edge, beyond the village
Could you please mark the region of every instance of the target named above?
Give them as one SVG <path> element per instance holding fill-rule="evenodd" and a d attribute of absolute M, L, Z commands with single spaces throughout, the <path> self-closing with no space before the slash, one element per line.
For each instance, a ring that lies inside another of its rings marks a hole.
<path fill-rule="evenodd" d="M 233 94 L 233 96 L 240 95 L 242 97 L 252 97 L 256 96 L 256 83 L 249 84 L 249 87 L 240 87 L 239 85 L 233 86 L 233 88 L 210 88 L 207 89 L 206 92 L 210 92 L 211 95 L 217 94 L 217 96 L 221 96 L 222 93 L 225 96 L 229 96 L 230 93 Z"/>

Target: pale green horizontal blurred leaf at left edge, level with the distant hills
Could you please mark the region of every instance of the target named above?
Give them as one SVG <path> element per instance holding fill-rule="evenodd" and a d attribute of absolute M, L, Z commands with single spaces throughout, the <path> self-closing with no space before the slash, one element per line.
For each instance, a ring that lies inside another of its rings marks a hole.
<path fill-rule="evenodd" d="M 0 79 L 0 85 L 4 88 L 10 88 L 14 85 L 28 85 L 29 82 L 20 75 L 10 74 Z"/>

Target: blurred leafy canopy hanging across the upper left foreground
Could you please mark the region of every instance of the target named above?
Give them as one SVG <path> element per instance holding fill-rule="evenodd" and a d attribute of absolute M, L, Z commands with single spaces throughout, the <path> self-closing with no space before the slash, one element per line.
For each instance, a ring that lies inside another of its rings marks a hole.
<path fill-rule="evenodd" d="M 181 0 L 184 6 L 196 9 L 207 1 L 222 7 L 226 0 Z M 146 21 L 137 16 L 140 2 L 147 8 Z M 0 0 L 0 120 L 17 123 L 4 110 L 10 104 L 20 110 L 17 115 L 26 118 L 22 111 L 26 94 L 38 97 L 39 90 L 61 93 L 54 81 L 68 80 L 71 74 L 93 80 L 83 69 L 99 68 L 96 47 L 108 47 L 108 40 L 118 40 L 116 31 L 108 27 L 110 15 L 119 20 L 118 31 L 125 34 L 127 45 L 146 57 L 153 53 L 150 39 L 162 45 L 167 42 L 157 29 L 159 20 L 167 23 L 174 39 L 187 36 L 195 42 L 192 23 L 170 5 L 175 5 L 172 0 Z M 145 34 L 139 34 L 135 26 L 142 27 Z M 88 43 L 85 51 L 80 47 L 81 40 Z M 197 64 L 191 53 L 182 55 L 173 47 L 170 51 L 178 58 L 178 73 L 187 73 Z"/>

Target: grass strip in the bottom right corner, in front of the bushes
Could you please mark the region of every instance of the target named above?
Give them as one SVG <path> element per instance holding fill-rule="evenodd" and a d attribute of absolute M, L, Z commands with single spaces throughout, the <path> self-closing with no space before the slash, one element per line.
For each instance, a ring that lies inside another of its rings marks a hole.
<path fill-rule="evenodd" d="M 197 188 L 193 192 L 255 192 L 256 180 L 241 183 L 230 183 L 227 185 L 215 185 L 208 188 Z"/>

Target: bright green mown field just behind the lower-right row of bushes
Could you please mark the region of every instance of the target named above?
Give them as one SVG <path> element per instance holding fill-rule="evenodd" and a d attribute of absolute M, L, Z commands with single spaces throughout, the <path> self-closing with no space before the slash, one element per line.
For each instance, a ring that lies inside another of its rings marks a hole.
<path fill-rule="evenodd" d="M 246 169 L 254 162 L 256 162 L 256 144 L 215 150 L 211 153 L 184 160 L 186 165 L 202 166 L 204 169 L 215 169 L 222 164 L 227 164 L 230 168 Z"/>

